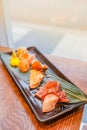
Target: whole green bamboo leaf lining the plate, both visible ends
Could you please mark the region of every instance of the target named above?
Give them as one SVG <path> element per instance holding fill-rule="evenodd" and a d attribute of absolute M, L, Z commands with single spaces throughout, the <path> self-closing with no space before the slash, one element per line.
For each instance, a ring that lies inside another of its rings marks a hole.
<path fill-rule="evenodd" d="M 5 54 L 2 53 L 1 54 L 1 58 L 3 59 L 4 63 L 6 64 L 6 66 L 20 79 L 22 79 L 23 81 L 29 83 L 29 71 L 26 73 L 22 73 L 19 68 L 14 68 L 12 66 L 10 66 L 10 55 L 9 54 Z M 65 90 L 70 103 L 79 103 L 79 102 L 87 102 L 87 97 L 85 96 L 85 94 L 75 85 L 61 79 L 59 76 L 57 76 L 56 74 L 50 73 L 49 71 L 46 72 L 46 77 L 44 79 L 44 81 L 47 80 L 56 80 L 59 81 L 61 83 L 61 87 L 63 90 Z M 44 83 L 44 82 L 43 82 Z"/>

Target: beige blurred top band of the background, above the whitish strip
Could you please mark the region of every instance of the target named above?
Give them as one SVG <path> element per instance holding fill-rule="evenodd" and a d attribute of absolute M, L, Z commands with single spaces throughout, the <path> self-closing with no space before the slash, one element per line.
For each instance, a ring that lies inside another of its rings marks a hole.
<path fill-rule="evenodd" d="M 12 20 L 87 29 L 87 0 L 8 0 Z"/>

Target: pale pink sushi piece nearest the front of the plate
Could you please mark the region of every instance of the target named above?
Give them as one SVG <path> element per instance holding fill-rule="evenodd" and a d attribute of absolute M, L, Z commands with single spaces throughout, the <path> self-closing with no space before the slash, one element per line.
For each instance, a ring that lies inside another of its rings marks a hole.
<path fill-rule="evenodd" d="M 58 102 L 58 97 L 55 94 L 48 94 L 45 96 L 42 106 L 42 112 L 50 112 L 55 109 Z"/>

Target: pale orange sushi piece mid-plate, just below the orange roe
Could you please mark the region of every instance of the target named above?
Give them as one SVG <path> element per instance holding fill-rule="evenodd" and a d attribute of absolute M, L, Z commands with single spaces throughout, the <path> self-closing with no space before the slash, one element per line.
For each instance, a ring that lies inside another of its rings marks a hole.
<path fill-rule="evenodd" d="M 44 78 L 44 73 L 38 70 L 30 71 L 30 89 L 38 87 Z"/>

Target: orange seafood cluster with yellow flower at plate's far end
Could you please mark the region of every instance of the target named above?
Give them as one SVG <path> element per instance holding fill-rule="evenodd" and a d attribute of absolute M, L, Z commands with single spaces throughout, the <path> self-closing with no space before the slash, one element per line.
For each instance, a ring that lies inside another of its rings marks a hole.
<path fill-rule="evenodd" d="M 27 72 L 34 59 L 35 55 L 30 55 L 26 47 L 19 47 L 16 51 L 12 52 L 10 65 L 18 67 L 21 72 Z"/>

